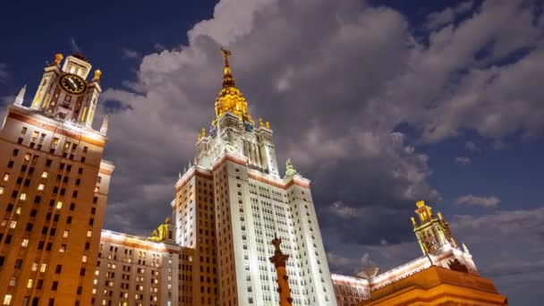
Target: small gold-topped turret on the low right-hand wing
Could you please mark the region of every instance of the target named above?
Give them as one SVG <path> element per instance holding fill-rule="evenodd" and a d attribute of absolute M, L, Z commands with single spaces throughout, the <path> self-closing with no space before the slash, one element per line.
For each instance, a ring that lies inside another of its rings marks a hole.
<path fill-rule="evenodd" d="M 413 233 L 420 242 L 421 251 L 424 255 L 441 251 L 444 246 L 457 248 L 454 236 L 449 229 L 446 219 L 438 212 L 438 217 L 432 213 L 432 208 L 425 204 L 424 200 L 415 203 L 415 213 L 420 217 L 418 225 L 412 217 Z"/>

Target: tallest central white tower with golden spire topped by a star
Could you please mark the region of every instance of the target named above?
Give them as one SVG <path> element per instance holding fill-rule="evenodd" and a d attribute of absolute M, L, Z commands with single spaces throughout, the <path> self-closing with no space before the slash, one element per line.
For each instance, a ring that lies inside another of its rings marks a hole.
<path fill-rule="evenodd" d="M 274 305 L 276 271 L 268 258 L 284 243 L 293 305 L 336 305 L 310 180 L 276 161 L 270 123 L 255 123 L 222 48 L 224 74 L 208 133 L 198 133 L 196 160 L 175 183 L 175 240 L 195 249 L 193 302 Z M 200 267 L 199 267 L 200 266 Z"/>

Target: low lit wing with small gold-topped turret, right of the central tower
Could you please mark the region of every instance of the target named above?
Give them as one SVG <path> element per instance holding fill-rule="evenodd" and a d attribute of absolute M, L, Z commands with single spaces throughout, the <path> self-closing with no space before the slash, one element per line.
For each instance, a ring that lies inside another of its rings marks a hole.
<path fill-rule="evenodd" d="M 385 287 L 391 291 L 393 290 L 391 288 L 395 288 L 394 284 L 404 278 L 433 267 L 463 270 L 467 275 L 479 276 L 471 253 L 464 244 L 463 249 L 459 248 L 442 214 L 438 213 L 438 217 L 435 217 L 432 209 L 422 200 L 416 203 L 416 207 L 415 212 L 420 217 L 420 224 L 412 217 L 412 225 L 423 256 L 384 273 L 378 273 L 378 268 L 370 268 L 356 276 L 333 274 L 336 301 L 339 306 L 352 306 L 369 300 L 375 292 Z M 392 304 L 395 303 L 386 302 L 383 305 Z"/>

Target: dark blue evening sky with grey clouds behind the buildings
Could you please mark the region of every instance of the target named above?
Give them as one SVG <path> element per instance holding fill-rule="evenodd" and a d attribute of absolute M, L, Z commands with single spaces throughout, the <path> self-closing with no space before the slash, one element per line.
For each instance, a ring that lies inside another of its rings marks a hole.
<path fill-rule="evenodd" d="M 214 118 L 222 56 L 278 162 L 312 181 L 333 272 L 421 255 L 442 211 L 513 305 L 544 299 L 541 1 L 2 1 L 0 115 L 47 61 L 103 74 L 116 169 L 105 228 L 150 234 Z"/>

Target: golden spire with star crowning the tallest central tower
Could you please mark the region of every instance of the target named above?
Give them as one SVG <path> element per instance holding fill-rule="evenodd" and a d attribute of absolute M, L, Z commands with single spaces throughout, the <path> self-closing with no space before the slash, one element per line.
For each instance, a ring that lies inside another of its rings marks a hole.
<path fill-rule="evenodd" d="M 235 86 L 231 67 L 228 62 L 231 52 L 225 49 L 225 47 L 222 47 L 221 53 L 223 54 L 225 61 L 225 69 L 223 74 L 223 89 L 219 91 L 219 95 L 216 99 L 217 118 L 225 112 L 230 112 L 234 115 L 238 115 L 240 120 L 253 124 L 253 119 L 248 112 L 248 102 L 243 97 L 242 91 Z M 216 121 L 214 121 L 214 125 L 215 123 Z"/>

